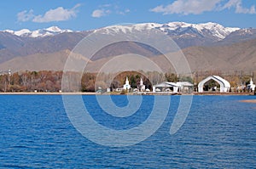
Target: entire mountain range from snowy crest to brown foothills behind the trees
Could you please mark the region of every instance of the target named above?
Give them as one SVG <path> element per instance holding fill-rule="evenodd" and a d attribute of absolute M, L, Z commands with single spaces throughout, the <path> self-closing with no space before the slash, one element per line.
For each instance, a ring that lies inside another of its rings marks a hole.
<path fill-rule="evenodd" d="M 157 29 L 172 37 L 196 70 L 255 70 L 256 29 L 224 27 L 217 23 L 166 24 L 143 23 L 113 25 L 111 30 L 145 31 Z M 29 31 L 0 31 L 0 70 L 62 70 L 68 54 L 87 35 L 104 28 L 90 31 L 61 30 L 56 26 Z M 108 33 L 108 32 L 107 32 Z M 99 51 L 90 59 L 91 68 L 119 54 L 137 54 L 161 62 L 162 56 L 152 48 L 137 42 L 119 42 Z M 84 56 L 86 57 L 86 56 Z M 166 68 L 167 69 L 167 68 Z"/>

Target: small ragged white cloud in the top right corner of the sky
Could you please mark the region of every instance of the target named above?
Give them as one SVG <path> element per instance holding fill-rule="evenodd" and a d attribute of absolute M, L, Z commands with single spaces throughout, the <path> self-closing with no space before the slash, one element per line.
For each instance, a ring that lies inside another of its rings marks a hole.
<path fill-rule="evenodd" d="M 256 14 L 255 6 L 251 6 L 250 8 L 244 8 L 241 5 L 241 0 L 230 0 L 228 3 L 224 4 L 225 8 L 236 8 L 236 14 Z"/>

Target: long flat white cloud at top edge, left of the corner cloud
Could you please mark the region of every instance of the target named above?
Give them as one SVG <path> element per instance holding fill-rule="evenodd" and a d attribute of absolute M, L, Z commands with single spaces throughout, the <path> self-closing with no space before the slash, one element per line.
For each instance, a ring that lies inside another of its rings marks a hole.
<path fill-rule="evenodd" d="M 167 6 L 157 6 L 150 9 L 155 13 L 163 14 L 201 14 L 214 10 L 221 0 L 176 0 Z"/>

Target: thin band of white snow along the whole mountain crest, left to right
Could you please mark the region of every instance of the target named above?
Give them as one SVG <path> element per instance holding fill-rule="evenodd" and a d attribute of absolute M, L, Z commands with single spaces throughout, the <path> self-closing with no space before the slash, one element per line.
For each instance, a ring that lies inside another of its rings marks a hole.
<path fill-rule="evenodd" d="M 227 35 L 229 35 L 233 31 L 240 30 L 241 28 L 237 27 L 224 27 L 223 25 L 219 25 L 218 23 L 213 22 L 207 22 L 202 24 L 190 24 L 186 22 L 169 22 L 166 24 L 159 24 L 159 23 L 141 23 L 141 24 L 133 24 L 133 25 L 113 25 L 108 27 L 120 27 L 120 26 L 126 26 L 126 27 L 133 27 L 134 29 L 140 30 L 140 29 L 159 29 L 160 31 L 164 31 L 167 34 L 172 31 L 183 31 L 183 29 L 187 28 L 194 28 L 196 31 L 202 32 L 203 30 L 213 31 L 215 34 L 213 34 L 214 37 L 218 37 L 219 39 L 224 39 Z M 102 28 L 95 29 L 101 30 Z M 72 30 L 64 29 L 62 30 L 58 26 L 51 26 L 49 28 L 44 29 L 38 29 L 35 31 L 30 31 L 29 29 L 21 29 L 19 31 L 13 31 L 13 30 L 4 30 L 3 32 L 9 32 L 13 35 L 16 35 L 18 37 L 48 37 L 48 36 L 55 36 L 60 33 L 64 32 L 74 32 Z M 75 31 L 80 32 L 80 31 Z"/>

